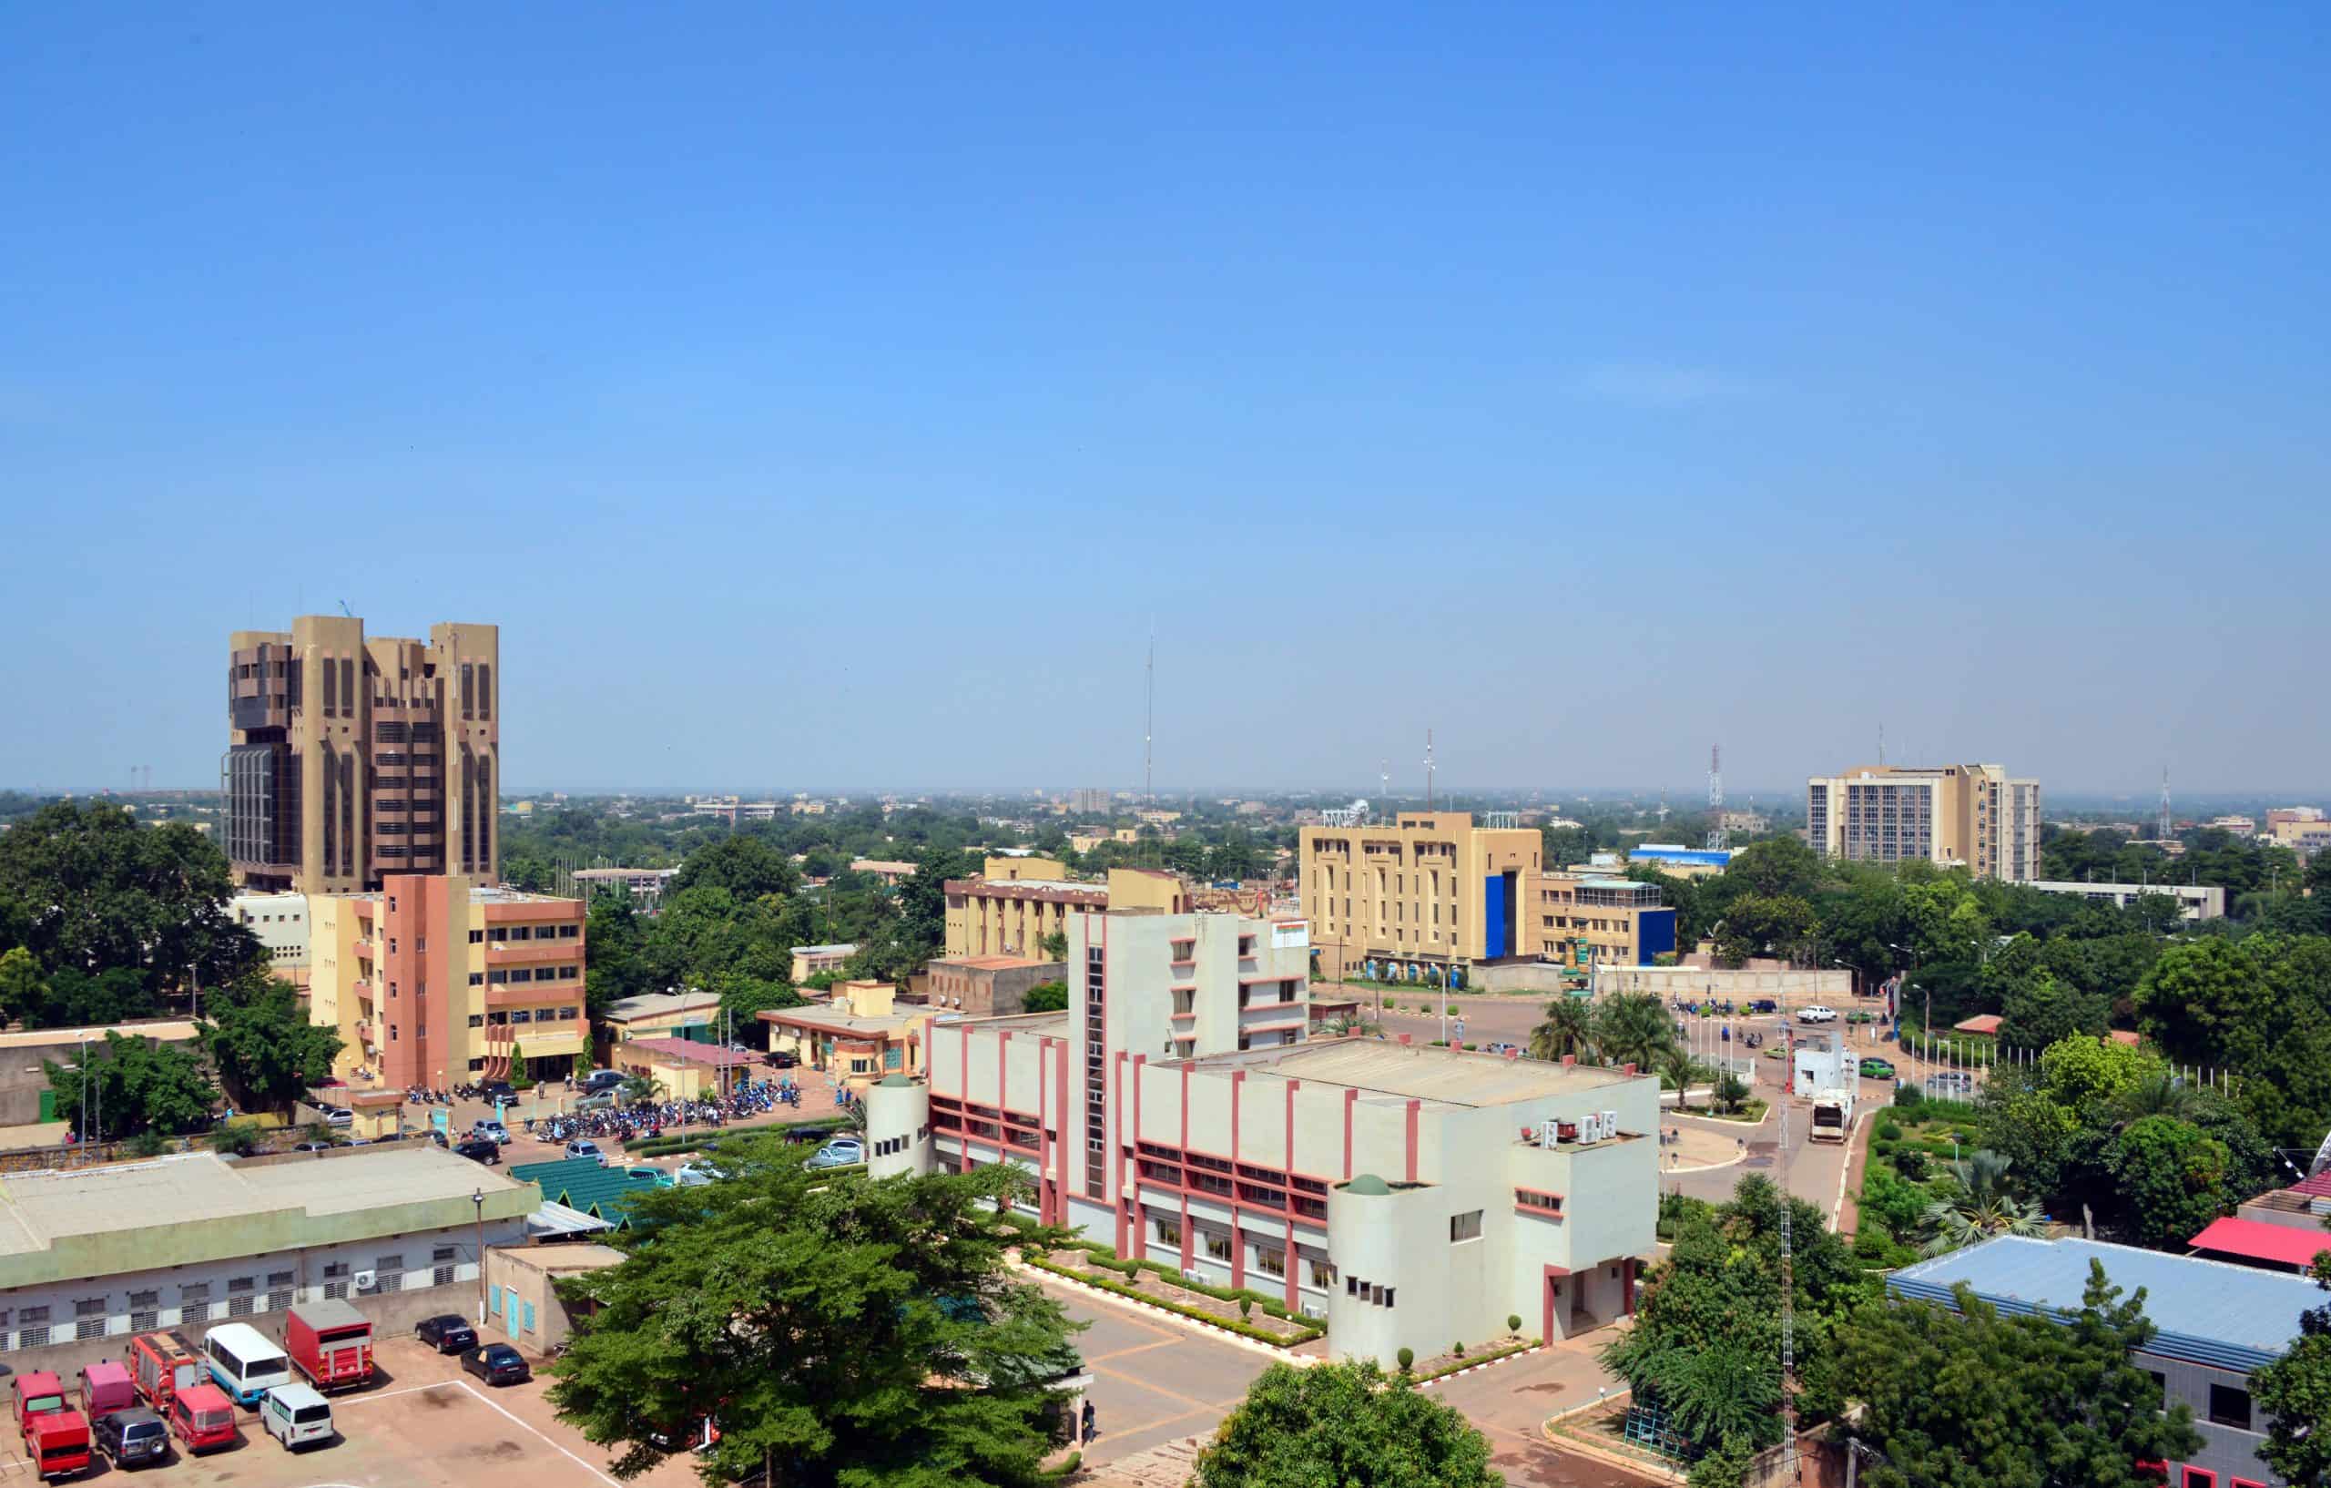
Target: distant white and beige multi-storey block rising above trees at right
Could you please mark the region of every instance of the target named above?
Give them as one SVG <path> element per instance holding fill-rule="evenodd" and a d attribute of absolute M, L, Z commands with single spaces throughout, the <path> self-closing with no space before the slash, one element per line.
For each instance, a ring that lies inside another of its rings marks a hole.
<path fill-rule="evenodd" d="M 1804 840 L 1855 863 L 1965 865 L 1974 877 L 2040 877 L 2040 781 L 2005 765 L 1867 765 L 1804 784 Z"/>

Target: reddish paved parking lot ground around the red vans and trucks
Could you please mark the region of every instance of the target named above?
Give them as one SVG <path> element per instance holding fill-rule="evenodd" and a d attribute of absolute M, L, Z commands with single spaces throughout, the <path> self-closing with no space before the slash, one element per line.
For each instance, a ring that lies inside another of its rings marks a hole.
<path fill-rule="evenodd" d="M 543 1402 L 545 1381 L 487 1388 L 413 1339 L 387 1339 L 375 1353 L 380 1376 L 366 1390 L 331 1397 L 338 1437 L 329 1446 L 287 1453 L 252 1411 L 238 1411 L 242 1441 L 163 1467 L 114 1474 L 98 1460 L 89 1479 L 138 1483 L 233 1483 L 235 1488 L 527 1488 L 604 1486 L 606 1453 L 559 1425 Z M 9 1444 L 14 1446 L 14 1444 Z M 0 1476 L 30 1481 L 21 1453 Z M 692 1462 L 664 1462 L 632 1479 L 653 1488 L 695 1488 Z"/>

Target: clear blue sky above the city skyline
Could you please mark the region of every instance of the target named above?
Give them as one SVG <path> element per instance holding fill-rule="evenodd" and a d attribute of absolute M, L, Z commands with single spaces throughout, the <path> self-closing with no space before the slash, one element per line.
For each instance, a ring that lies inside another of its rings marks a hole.
<path fill-rule="evenodd" d="M 1254 9 L 16 7 L 0 781 L 2331 786 L 2319 7 Z"/>

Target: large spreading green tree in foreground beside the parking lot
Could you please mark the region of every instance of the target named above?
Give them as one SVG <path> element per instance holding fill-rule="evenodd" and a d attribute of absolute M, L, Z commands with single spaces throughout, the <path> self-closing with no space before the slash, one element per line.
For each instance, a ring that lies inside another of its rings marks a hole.
<path fill-rule="evenodd" d="M 774 1136 L 720 1147 L 727 1182 L 632 1199 L 550 1404 L 639 1476 L 695 1441 L 706 1483 L 942 1488 L 1051 1481 L 1049 1385 L 1077 1355 L 1061 1304 L 1005 1269 L 1007 1168 L 869 1182 Z"/>

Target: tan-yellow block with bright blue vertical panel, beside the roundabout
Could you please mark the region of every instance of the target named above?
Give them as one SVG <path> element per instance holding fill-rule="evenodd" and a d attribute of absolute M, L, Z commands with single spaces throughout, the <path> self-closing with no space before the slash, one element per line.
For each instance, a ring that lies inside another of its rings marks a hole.
<path fill-rule="evenodd" d="M 1296 893 L 1322 963 L 1340 973 L 1441 980 L 1480 961 L 1538 954 L 1531 828 L 1473 826 L 1466 812 L 1303 828 Z"/>

